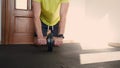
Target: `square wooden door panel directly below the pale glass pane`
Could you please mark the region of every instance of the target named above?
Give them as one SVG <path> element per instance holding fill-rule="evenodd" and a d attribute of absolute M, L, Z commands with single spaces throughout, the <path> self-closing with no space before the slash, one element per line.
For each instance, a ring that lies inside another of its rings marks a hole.
<path fill-rule="evenodd" d="M 15 33 L 32 33 L 33 19 L 32 18 L 15 18 Z"/>

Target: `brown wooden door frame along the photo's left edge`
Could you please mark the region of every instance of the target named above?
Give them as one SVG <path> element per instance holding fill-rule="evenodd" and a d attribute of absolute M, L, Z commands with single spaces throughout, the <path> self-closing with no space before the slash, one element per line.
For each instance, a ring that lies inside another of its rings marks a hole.
<path fill-rule="evenodd" d="M 10 24 L 10 4 L 9 0 L 2 0 L 2 35 L 1 35 L 1 43 L 7 44 L 9 41 L 9 26 Z"/>

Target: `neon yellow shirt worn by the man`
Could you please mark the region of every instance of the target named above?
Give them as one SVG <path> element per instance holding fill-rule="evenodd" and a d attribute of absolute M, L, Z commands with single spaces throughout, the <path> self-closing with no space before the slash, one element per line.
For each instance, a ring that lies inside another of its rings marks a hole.
<path fill-rule="evenodd" d="M 60 5 L 69 0 L 33 0 L 41 3 L 41 21 L 48 25 L 53 26 L 60 20 Z"/>

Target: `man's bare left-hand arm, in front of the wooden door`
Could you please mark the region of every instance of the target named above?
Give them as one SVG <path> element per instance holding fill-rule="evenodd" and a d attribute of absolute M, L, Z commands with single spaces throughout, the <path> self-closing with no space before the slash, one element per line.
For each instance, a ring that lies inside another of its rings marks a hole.
<path fill-rule="evenodd" d="M 33 5 L 34 23 L 35 23 L 37 38 L 41 39 L 41 38 L 43 38 L 41 21 L 40 21 L 41 4 L 39 2 L 33 1 L 32 5 Z"/>

